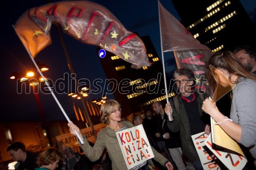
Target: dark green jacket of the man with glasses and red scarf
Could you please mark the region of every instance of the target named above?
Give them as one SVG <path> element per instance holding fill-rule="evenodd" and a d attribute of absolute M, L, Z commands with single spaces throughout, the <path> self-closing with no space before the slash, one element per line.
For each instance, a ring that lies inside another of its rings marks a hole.
<path fill-rule="evenodd" d="M 179 114 L 176 112 L 176 110 L 174 108 L 174 106 L 175 106 L 174 101 L 170 100 L 170 105 L 172 106 L 172 109 L 173 109 L 174 120 L 172 122 L 169 122 L 169 120 L 168 120 L 167 126 L 172 132 L 180 131 L 182 153 L 190 160 L 200 161 L 199 156 L 196 151 L 196 148 L 195 148 L 195 145 L 191 138 L 187 113 L 186 113 L 184 104 L 181 101 L 181 98 L 179 97 L 179 95 L 180 94 L 178 94 Z M 199 113 L 202 117 L 203 116 L 203 110 L 202 110 L 203 101 L 200 99 L 199 96 L 197 96 L 197 102 L 198 102 Z M 204 114 L 206 114 L 206 113 L 204 113 Z"/>

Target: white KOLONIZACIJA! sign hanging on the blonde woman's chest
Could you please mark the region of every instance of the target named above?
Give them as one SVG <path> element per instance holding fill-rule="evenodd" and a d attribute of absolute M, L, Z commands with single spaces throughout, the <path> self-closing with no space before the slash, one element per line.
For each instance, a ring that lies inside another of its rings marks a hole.
<path fill-rule="evenodd" d="M 116 132 L 116 135 L 128 169 L 155 157 L 142 125 Z"/>

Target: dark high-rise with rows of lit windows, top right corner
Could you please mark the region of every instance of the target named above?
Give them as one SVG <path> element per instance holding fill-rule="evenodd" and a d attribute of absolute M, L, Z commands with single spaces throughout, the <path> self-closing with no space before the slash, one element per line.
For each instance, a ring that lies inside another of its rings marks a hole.
<path fill-rule="evenodd" d="M 255 45 L 255 26 L 239 0 L 172 2 L 184 27 L 212 51 Z"/>

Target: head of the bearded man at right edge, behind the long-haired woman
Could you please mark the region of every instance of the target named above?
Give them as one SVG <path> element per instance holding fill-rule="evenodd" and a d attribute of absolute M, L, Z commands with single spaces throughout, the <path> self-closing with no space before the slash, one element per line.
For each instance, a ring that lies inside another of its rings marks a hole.
<path fill-rule="evenodd" d="M 234 49 L 234 57 L 245 66 L 253 75 L 256 75 L 256 50 L 248 45 L 238 46 Z"/>

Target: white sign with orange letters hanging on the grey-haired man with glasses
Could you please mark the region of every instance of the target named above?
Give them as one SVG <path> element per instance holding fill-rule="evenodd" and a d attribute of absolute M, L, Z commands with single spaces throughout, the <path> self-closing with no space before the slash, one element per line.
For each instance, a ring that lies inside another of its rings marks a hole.
<path fill-rule="evenodd" d="M 211 136 L 211 135 L 209 135 Z M 206 147 L 204 141 L 207 139 L 207 135 L 204 132 L 192 135 L 192 140 L 196 147 L 200 161 L 204 169 L 221 169 L 217 162 L 211 158 L 211 152 Z"/>

